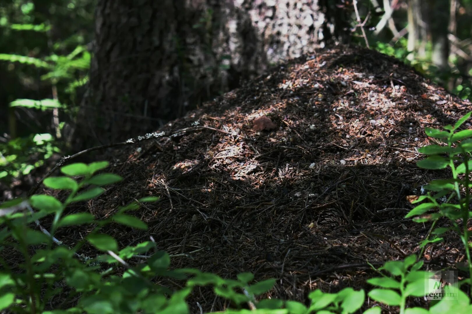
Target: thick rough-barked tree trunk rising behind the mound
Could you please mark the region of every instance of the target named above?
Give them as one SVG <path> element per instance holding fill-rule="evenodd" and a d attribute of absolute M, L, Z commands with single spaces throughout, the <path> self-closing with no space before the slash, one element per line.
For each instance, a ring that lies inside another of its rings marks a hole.
<path fill-rule="evenodd" d="M 100 0 L 79 134 L 109 142 L 152 131 L 240 79 L 344 41 L 347 13 L 335 2 Z"/>

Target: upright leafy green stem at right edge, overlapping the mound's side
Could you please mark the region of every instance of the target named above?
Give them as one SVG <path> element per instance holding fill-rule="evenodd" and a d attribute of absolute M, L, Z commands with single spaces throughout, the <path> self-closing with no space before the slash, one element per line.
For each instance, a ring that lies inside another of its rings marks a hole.
<path fill-rule="evenodd" d="M 471 195 L 470 174 L 472 172 L 472 130 L 460 130 L 459 128 L 467 121 L 472 112 L 467 113 L 454 125 L 446 125 L 444 130 L 426 128 L 425 132 L 438 143 L 419 149 L 419 152 L 427 157 L 417 162 L 417 165 L 425 169 L 445 169 L 449 168 L 452 173 L 451 179 L 433 180 L 424 189 L 428 194 L 420 198 L 413 199 L 412 203 L 423 203 L 414 207 L 405 217 L 418 216 L 414 220 L 418 223 L 432 221 L 432 238 L 427 238 L 421 242 L 421 247 L 428 243 L 441 242 L 441 237 L 447 231 L 455 231 L 464 244 L 466 251 L 468 268 L 472 283 L 472 260 L 470 255 L 470 231 L 466 223 L 472 216 L 470 211 Z M 465 191 L 462 193 L 461 191 Z M 447 197 L 446 202 L 439 203 L 438 198 Z M 429 213 L 431 209 L 437 209 L 434 213 Z M 451 222 L 451 227 L 435 227 L 436 222 L 445 217 Z"/>

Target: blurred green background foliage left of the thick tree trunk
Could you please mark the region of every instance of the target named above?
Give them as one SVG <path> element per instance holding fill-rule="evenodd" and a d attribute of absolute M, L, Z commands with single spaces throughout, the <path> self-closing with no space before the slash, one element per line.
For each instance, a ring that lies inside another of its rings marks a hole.
<path fill-rule="evenodd" d="M 7 76 L 0 86 L 0 102 L 9 103 L 12 120 L 16 119 L 13 112 L 19 112 L 14 108 L 23 107 L 29 111 L 28 116 L 36 120 L 32 125 L 42 123 L 53 109 L 56 112 L 59 109 L 61 121 L 74 121 L 76 89 L 88 81 L 91 56 L 85 45 L 93 35 L 94 4 L 95 0 L 2 3 L 0 72 Z M 36 109 L 46 113 L 35 112 Z M 0 143 L 1 182 L 11 182 L 15 177 L 30 173 L 43 165 L 52 152 L 67 146 L 55 139 L 61 135 L 64 126 L 61 121 L 54 125 L 55 130 L 41 130 L 44 134 L 37 135 L 34 135 L 37 130 L 20 123 L 17 132 L 16 124 L 10 126 L 10 135 L 17 133 L 22 138 Z M 2 122 L 0 131 L 7 132 L 2 129 L 7 121 Z M 38 144 L 33 139 L 39 136 L 50 138 Z"/>

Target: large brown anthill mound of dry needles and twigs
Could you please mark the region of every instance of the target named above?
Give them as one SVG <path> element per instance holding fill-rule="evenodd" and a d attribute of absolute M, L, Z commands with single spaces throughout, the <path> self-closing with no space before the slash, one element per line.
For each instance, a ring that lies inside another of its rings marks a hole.
<path fill-rule="evenodd" d="M 378 52 L 317 51 L 162 131 L 195 124 L 215 130 L 115 151 L 110 170 L 125 180 L 87 210 L 107 217 L 134 199 L 160 196 L 135 212 L 148 231 L 118 224 L 105 231 L 123 247 L 152 236 L 170 254 L 195 251 L 173 258 L 173 267 L 277 278 L 272 297 L 365 288 L 373 273 L 366 261 L 379 265 L 417 252 L 428 231 L 404 219 L 412 208 L 405 196 L 447 175 L 415 165 L 418 148 L 434 142 L 424 127 L 454 123 L 470 108 Z M 271 122 L 254 122 L 260 116 Z M 71 242 L 85 234 L 67 232 L 62 236 Z M 461 258 L 460 247 L 451 238 L 427 247 L 422 258 L 427 267 L 444 266 Z M 209 289 L 192 298 L 206 311 L 228 305 Z"/>

